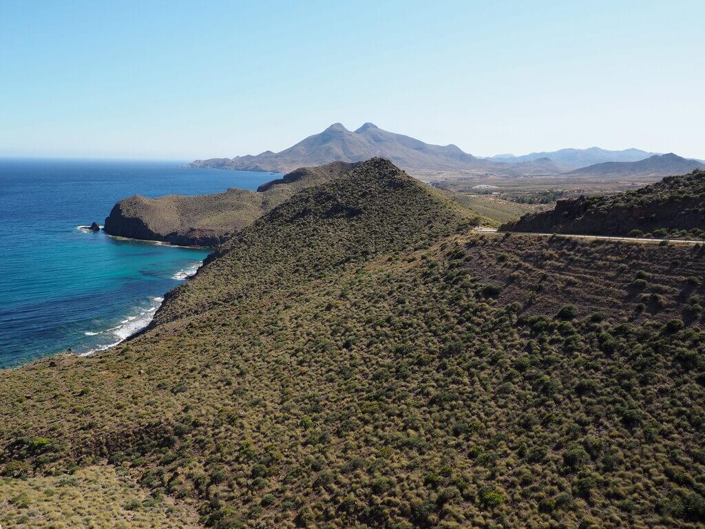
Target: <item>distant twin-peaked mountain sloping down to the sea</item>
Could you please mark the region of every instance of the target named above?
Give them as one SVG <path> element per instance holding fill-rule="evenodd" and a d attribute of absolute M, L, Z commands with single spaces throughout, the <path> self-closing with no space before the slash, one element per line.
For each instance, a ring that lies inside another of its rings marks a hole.
<path fill-rule="evenodd" d="M 467 169 L 476 165 L 476 159 L 471 154 L 462 152 L 455 145 L 429 145 L 409 136 L 382 130 L 373 123 L 364 123 L 355 131 L 346 129 L 341 123 L 333 123 L 323 132 L 281 152 L 196 160 L 191 166 L 288 172 L 302 166 L 336 161 L 360 162 L 372 157 L 385 157 L 404 169 Z M 479 162 L 479 166 L 482 165 Z"/>

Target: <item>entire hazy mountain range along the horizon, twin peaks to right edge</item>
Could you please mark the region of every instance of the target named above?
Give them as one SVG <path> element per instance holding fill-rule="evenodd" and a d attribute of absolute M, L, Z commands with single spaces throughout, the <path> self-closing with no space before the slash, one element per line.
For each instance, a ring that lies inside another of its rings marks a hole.
<path fill-rule="evenodd" d="M 679 174 L 673 169 L 683 166 L 682 172 L 699 169 L 697 161 L 677 163 L 668 158 L 658 161 L 659 154 L 639 149 L 610 151 L 599 147 L 589 149 L 562 149 L 553 152 L 532 152 L 523 156 L 499 154 L 491 158 L 474 157 L 456 145 L 431 145 L 410 136 L 382 130 L 374 123 L 364 123 L 357 130 L 348 130 L 341 123 L 333 123 L 321 133 L 314 134 L 281 152 L 196 160 L 191 167 L 238 169 L 243 171 L 276 171 L 287 173 L 305 166 L 331 162 L 361 162 L 372 157 L 391 160 L 412 174 L 438 171 L 450 173 L 486 174 L 496 176 L 580 175 L 580 176 L 668 176 Z M 665 155 L 675 157 L 675 154 Z M 656 158 L 656 160 L 654 160 Z M 646 162 L 637 166 L 629 164 Z M 603 164 L 624 164 L 602 167 Z M 580 170 L 580 172 L 577 172 Z"/>

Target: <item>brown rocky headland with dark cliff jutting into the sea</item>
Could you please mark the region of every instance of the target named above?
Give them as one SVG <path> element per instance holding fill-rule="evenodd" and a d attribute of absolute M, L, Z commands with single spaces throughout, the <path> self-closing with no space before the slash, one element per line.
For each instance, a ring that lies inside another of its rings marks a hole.
<path fill-rule="evenodd" d="M 329 181 L 353 166 L 334 162 L 297 169 L 280 180 L 260 186 L 256 193 L 233 188 L 212 195 L 159 198 L 135 195 L 116 203 L 105 219 L 104 229 L 114 236 L 178 245 L 216 246 L 298 190 Z"/>

